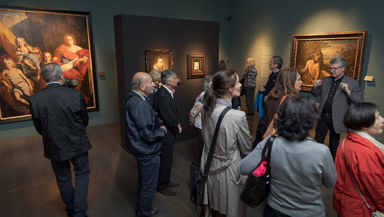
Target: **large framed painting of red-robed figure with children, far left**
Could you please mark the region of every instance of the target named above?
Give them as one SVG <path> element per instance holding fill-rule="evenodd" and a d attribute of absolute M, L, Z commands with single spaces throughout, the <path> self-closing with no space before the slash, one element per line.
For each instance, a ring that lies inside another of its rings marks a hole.
<path fill-rule="evenodd" d="M 0 36 L 0 123 L 31 119 L 29 97 L 45 87 L 49 62 L 99 110 L 91 13 L 0 5 Z"/>

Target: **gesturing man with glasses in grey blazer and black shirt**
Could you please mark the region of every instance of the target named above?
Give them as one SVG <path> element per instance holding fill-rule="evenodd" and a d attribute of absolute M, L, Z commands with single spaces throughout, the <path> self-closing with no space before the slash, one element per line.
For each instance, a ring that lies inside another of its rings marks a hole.
<path fill-rule="evenodd" d="M 321 95 L 317 110 L 320 120 L 316 125 L 314 140 L 324 143 L 329 130 L 329 149 L 335 159 L 340 134 L 348 132 L 348 128 L 343 125 L 344 113 L 351 106 L 351 102 L 363 102 L 363 98 L 359 82 L 344 74 L 347 61 L 339 56 L 329 63 L 331 76 L 315 80 L 311 93 L 314 97 Z"/>

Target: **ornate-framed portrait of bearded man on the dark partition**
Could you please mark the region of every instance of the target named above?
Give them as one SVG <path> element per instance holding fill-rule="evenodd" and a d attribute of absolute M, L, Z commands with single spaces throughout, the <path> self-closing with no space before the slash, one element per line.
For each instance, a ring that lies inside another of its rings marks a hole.
<path fill-rule="evenodd" d="M 173 69 L 173 50 L 145 50 L 147 73 L 154 69 Z"/>

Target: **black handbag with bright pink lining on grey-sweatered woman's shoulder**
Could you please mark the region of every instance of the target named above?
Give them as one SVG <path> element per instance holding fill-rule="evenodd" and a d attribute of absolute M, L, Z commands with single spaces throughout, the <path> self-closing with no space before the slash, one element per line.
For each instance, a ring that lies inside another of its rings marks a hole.
<path fill-rule="evenodd" d="M 266 172 L 262 176 L 255 176 L 253 175 L 253 172 L 251 172 L 245 181 L 243 192 L 240 194 L 240 199 L 252 208 L 260 205 L 263 200 L 268 197 L 270 191 L 271 149 L 275 138 L 276 137 L 274 136 L 268 138 L 262 152 L 262 159 L 264 159 L 265 151 L 268 148 L 268 154 L 266 157 Z"/>

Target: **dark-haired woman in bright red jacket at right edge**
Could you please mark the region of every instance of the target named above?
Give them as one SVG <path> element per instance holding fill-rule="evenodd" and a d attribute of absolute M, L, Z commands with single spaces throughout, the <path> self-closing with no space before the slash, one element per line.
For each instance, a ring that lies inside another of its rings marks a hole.
<path fill-rule="evenodd" d="M 349 132 L 336 152 L 338 178 L 333 192 L 333 209 L 340 217 L 371 216 L 376 210 L 384 211 L 384 145 L 372 137 L 381 134 L 384 127 L 378 109 L 373 103 L 362 102 L 349 107 L 344 115 L 343 124 Z"/>

